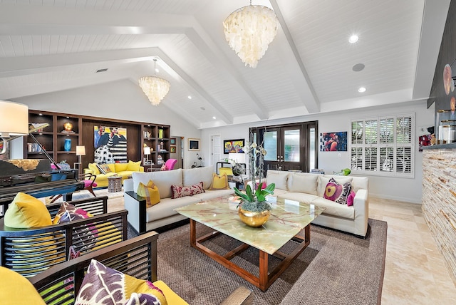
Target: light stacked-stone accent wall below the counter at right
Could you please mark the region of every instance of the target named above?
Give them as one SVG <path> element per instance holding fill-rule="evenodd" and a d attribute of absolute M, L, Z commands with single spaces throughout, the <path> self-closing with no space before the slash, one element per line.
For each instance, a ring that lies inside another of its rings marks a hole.
<path fill-rule="evenodd" d="M 423 150 L 422 210 L 456 279 L 456 148 Z"/>

